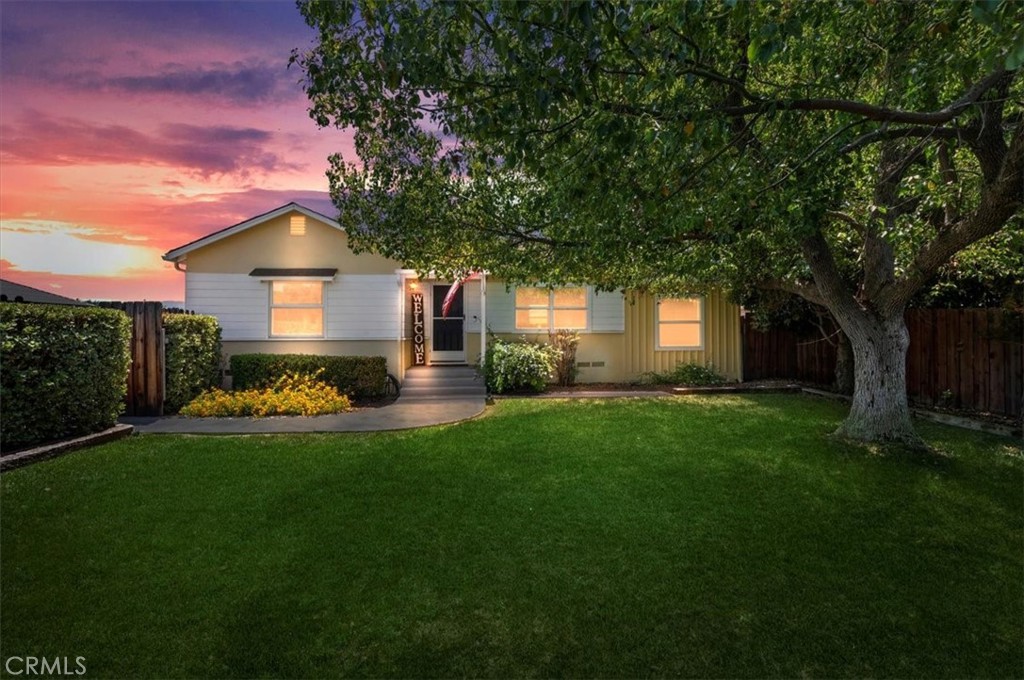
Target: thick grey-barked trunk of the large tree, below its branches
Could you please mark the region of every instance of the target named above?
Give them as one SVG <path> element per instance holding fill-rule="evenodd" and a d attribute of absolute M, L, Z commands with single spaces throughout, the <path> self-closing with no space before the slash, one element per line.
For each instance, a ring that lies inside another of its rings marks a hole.
<path fill-rule="evenodd" d="M 913 431 L 906 399 L 910 336 L 902 311 L 890 317 L 861 311 L 837 321 L 850 339 L 854 362 L 853 405 L 837 434 L 926 448 Z"/>

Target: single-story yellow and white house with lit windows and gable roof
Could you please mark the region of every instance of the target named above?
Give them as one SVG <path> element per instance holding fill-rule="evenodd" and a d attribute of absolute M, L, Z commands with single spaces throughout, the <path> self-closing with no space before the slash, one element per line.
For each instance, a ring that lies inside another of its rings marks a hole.
<path fill-rule="evenodd" d="M 581 382 L 628 381 L 681 362 L 740 378 L 739 308 L 720 293 L 669 299 L 590 286 L 510 288 L 481 274 L 459 289 L 442 317 L 451 281 L 354 254 L 337 221 L 297 203 L 164 259 L 184 271 L 185 306 L 219 320 L 225 356 L 382 355 L 401 379 L 419 364 L 476 364 L 488 331 L 547 341 L 555 329 L 575 329 Z"/>

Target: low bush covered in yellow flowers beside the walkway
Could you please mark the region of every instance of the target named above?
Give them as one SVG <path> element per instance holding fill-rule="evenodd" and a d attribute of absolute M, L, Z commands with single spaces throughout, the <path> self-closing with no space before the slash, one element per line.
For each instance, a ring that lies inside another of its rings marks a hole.
<path fill-rule="evenodd" d="M 286 373 L 269 387 L 225 392 L 213 388 L 189 401 L 181 415 L 193 418 L 231 416 L 324 416 L 352 408 L 338 388 L 322 382 L 323 371 Z"/>

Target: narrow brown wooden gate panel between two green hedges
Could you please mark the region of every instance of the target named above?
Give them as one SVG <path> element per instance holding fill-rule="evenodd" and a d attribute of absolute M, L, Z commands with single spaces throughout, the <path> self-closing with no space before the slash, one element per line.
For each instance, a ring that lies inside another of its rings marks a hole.
<path fill-rule="evenodd" d="M 164 305 L 122 302 L 131 318 L 131 369 L 125 395 L 126 416 L 164 415 Z"/>

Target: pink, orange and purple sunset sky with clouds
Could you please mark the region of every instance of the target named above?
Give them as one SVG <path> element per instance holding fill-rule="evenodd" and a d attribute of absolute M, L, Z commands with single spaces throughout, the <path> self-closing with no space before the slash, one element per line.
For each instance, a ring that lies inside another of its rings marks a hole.
<path fill-rule="evenodd" d="M 306 114 L 292 2 L 0 2 L 0 275 L 182 300 L 161 255 L 289 201 L 351 135 Z"/>

